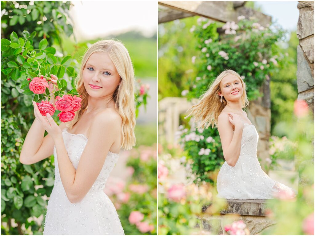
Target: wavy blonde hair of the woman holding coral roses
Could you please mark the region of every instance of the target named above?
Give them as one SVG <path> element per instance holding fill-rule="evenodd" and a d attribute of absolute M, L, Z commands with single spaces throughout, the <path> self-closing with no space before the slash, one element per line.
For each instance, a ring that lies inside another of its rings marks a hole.
<path fill-rule="evenodd" d="M 128 150 L 135 146 L 135 74 L 128 50 L 122 42 L 118 40 L 100 40 L 92 44 L 84 53 L 81 69 L 75 80 L 77 91 L 82 95 L 81 109 L 75 112 L 75 118 L 69 122 L 71 129 L 82 116 L 88 106 L 89 94 L 83 84 L 83 69 L 89 57 L 95 52 L 105 52 L 114 63 L 121 78 L 120 85 L 117 86 L 113 100 L 115 108 L 123 120 L 122 144 L 121 148 Z"/>

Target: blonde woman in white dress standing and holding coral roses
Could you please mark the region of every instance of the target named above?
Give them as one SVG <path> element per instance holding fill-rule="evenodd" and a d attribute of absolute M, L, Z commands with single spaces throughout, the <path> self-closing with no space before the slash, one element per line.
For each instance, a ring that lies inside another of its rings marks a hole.
<path fill-rule="evenodd" d="M 58 78 L 52 78 L 56 84 Z M 118 41 L 103 40 L 83 56 L 76 79 L 82 107 L 74 120 L 58 127 L 34 103 L 36 119 L 20 162 L 33 164 L 54 154 L 55 182 L 44 234 L 124 234 L 103 189 L 120 149 L 135 145 L 134 83 L 127 49 Z"/>

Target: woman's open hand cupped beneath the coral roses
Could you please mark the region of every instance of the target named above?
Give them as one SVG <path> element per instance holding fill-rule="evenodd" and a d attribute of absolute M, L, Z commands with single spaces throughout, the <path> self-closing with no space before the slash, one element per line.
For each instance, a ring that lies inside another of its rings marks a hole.
<path fill-rule="evenodd" d="M 62 131 L 54 119 L 48 113 L 47 117 L 45 118 L 38 110 L 35 101 L 33 101 L 33 106 L 36 119 L 43 125 L 44 129 L 52 137 L 52 139 L 55 141 L 56 139 L 60 138 L 60 136 L 62 137 Z"/>

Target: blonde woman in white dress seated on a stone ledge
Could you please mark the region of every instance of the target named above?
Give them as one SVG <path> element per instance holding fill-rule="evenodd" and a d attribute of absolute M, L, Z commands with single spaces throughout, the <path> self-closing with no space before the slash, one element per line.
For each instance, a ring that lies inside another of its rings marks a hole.
<path fill-rule="evenodd" d="M 233 70 L 221 72 L 190 115 L 198 128 L 216 127 L 225 162 L 218 178 L 218 197 L 224 199 L 271 199 L 279 192 L 295 192 L 266 175 L 257 158 L 258 133 L 243 111 L 249 104 L 246 86 Z"/>

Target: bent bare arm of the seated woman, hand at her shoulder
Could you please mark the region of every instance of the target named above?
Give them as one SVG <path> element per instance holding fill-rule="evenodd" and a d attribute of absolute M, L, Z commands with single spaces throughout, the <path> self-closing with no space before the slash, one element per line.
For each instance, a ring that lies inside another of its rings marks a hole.
<path fill-rule="evenodd" d="M 235 166 L 241 153 L 241 141 L 243 135 L 241 123 L 235 125 L 233 133 L 233 125 L 229 120 L 227 113 L 221 113 L 218 117 L 218 131 L 221 138 L 223 155 L 226 163 L 230 166 Z"/>

